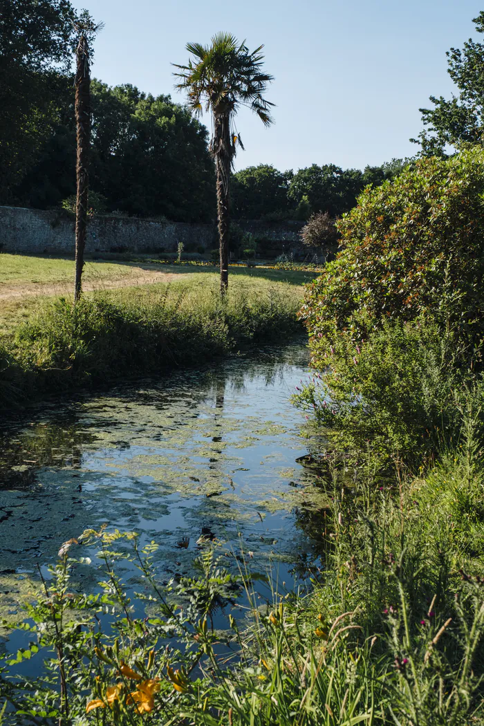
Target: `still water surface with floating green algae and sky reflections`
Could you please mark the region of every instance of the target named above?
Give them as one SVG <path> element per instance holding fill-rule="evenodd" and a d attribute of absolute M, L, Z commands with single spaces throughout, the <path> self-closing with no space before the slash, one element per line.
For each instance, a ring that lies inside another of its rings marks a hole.
<path fill-rule="evenodd" d="M 284 577 L 311 561 L 311 537 L 296 524 L 324 494 L 296 462 L 307 448 L 289 401 L 307 362 L 303 345 L 266 350 L 50 401 L 9 425 L 0 439 L 4 612 L 62 542 L 102 523 L 159 543 L 167 578 L 189 571 L 202 531 L 226 542 L 234 563 L 250 552 Z M 94 587 L 94 568 L 78 576 Z"/>

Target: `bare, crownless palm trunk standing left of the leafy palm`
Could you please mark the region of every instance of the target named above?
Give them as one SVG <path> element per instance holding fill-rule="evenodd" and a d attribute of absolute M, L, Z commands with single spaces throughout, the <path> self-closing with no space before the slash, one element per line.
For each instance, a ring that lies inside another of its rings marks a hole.
<path fill-rule="evenodd" d="M 86 247 L 89 194 L 89 147 L 91 145 L 91 73 L 89 43 L 81 34 L 75 52 L 75 125 L 77 132 L 77 197 L 75 200 L 75 283 L 74 302 L 81 298 L 81 279 Z"/>

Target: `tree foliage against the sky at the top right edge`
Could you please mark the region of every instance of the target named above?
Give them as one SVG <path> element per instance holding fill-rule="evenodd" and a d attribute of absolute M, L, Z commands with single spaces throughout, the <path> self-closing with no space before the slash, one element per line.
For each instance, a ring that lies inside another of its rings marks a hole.
<path fill-rule="evenodd" d="M 484 11 L 474 18 L 477 33 L 484 33 Z M 458 94 L 450 101 L 430 96 L 433 108 L 421 108 L 426 127 L 419 138 L 424 155 L 446 155 L 446 149 L 462 144 L 483 142 L 484 44 L 469 39 L 464 49 L 451 48 L 446 53 L 448 75 L 456 83 Z"/>

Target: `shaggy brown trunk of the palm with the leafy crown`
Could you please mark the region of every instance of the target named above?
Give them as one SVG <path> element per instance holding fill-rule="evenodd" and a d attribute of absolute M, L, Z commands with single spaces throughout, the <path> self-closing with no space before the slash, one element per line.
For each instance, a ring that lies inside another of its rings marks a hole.
<path fill-rule="evenodd" d="M 220 292 L 229 289 L 229 237 L 230 237 L 230 172 L 234 144 L 230 131 L 229 113 L 214 114 L 214 133 L 211 152 L 216 163 L 216 192 L 218 241 L 220 245 Z"/>

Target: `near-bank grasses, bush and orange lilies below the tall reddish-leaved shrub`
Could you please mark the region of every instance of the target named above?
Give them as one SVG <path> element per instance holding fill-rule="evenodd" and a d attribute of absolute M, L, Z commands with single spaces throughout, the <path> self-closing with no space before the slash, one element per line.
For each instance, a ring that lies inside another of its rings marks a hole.
<path fill-rule="evenodd" d="M 315 478 L 321 500 L 332 501 L 308 521 L 321 548 L 311 592 L 274 584 L 264 602 L 250 552 L 237 572 L 223 542 L 209 541 L 200 542 L 198 579 L 161 584 L 155 543 L 86 531 L 80 545 L 61 547 L 44 595 L 25 613 L 33 645 L 0 673 L 11 722 L 25 711 L 33 722 L 49 716 L 65 725 L 483 725 L 481 376 L 456 364 L 451 337 L 442 344 L 424 327 L 388 327 L 366 344 L 372 366 L 362 360 L 361 381 L 378 370 L 385 395 L 380 383 L 381 395 L 353 397 L 352 415 L 343 396 L 332 427 L 318 410 L 327 397 L 311 393 L 316 378 L 299 397 L 316 412 L 308 422 Z M 349 391 L 358 387 L 352 364 Z M 343 375 L 343 363 L 335 370 Z M 318 379 L 326 394 L 335 370 Z M 343 394 L 344 380 L 336 383 Z M 326 433 L 323 449 L 315 425 Z M 75 587 L 93 546 L 102 597 Z M 139 570 L 136 603 L 116 574 L 121 558 Z M 225 610 L 226 627 L 213 629 L 215 613 L 243 592 L 247 615 L 237 621 Z M 108 612 L 118 616 L 103 628 Z M 46 675 L 12 680 L 9 669 L 30 658 L 44 658 Z"/>

